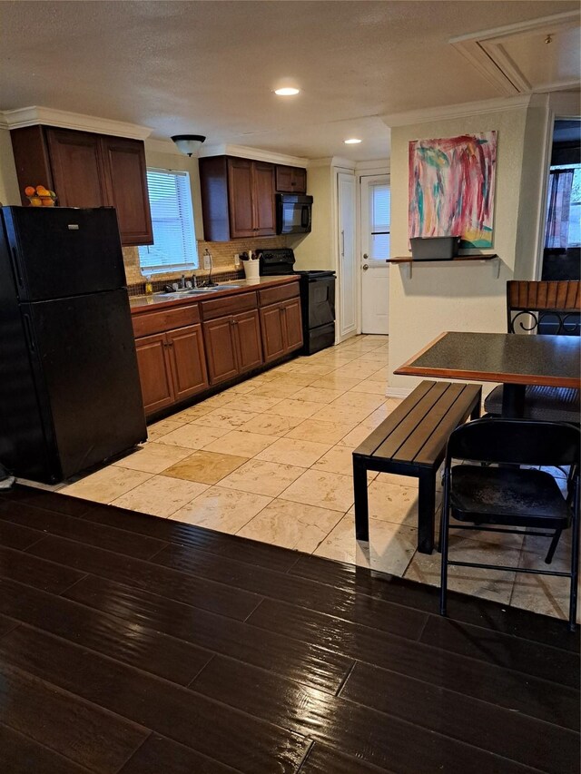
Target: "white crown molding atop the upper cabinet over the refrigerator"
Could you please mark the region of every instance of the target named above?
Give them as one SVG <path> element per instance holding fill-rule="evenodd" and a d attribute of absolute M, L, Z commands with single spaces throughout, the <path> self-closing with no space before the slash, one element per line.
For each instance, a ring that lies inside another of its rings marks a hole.
<path fill-rule="evenodd" d="M 68 113 L 64 110 L 55 110 L 40 105 L 5 110 L 1 115 L 3 125 L 8 129 L 20 129 L 23 126 L 34 126 L 42 123 L 46 126 L 61 126 L 65 129 L 78 129 L 82 132 L 130 137 L 133 140 L 145 140 L 152 132 L 146 126 L 137 126 L 134 123 L 97 118 L 94 115 L 84 115 L 83 113 Z"/>

